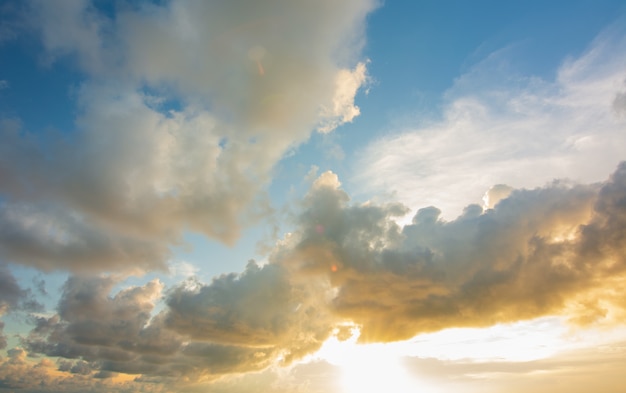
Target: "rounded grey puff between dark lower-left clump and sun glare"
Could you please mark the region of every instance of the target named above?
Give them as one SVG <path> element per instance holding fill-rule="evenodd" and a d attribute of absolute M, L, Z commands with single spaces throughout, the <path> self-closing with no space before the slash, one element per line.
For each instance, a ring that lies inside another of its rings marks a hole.
<path fill-rule="evenodd" d="M 168 297 L 166 324 L 191 338 L 219 343 L 261 349 L 286 341 L 319 346 L 329 335 L 324 310 L 314 308 L 312 294 L 290 281 L 279 265 L 251 262 L 240 275 L 224 275 L 199 288 L 178 287 Z"/>

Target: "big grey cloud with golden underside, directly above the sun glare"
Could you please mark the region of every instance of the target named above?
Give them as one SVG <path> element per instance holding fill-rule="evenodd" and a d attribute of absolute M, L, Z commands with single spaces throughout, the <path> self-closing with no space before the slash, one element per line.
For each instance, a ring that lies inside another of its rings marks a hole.
<path fill-rule="evenodd" d="M 515 190 L 453 221 L 424 208 L 400 227 L 403 206 L 350 205 L 336 183 L 320 181 L 300 229 L 270 261 L 328 280 L 333 314 L 360 325 L 366 342 L 554 314 L 619 323 L 625 195 L 621 164 L 604 183 Z"/>

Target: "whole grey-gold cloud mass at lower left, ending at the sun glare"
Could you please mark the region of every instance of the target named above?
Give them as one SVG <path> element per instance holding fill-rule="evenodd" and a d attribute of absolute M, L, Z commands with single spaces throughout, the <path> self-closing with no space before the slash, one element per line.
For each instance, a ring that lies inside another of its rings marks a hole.
<path fill-rule="evenodd" d="M 117 282 L 70 278 L 58 313 L 36 319 L 25 347 L 84 360 L 93 373 L 81 370 L 90 375 L 202 381 L 289 364 L 317 350 L 333 326 L 314 292 L 319 288 L 291 279 L 278 265 L 250 262 L 243 273 L 210 284 L 185 281 L 168 291 L 166 308 L 156 315 L 159 281 L 111 296 Z"/>

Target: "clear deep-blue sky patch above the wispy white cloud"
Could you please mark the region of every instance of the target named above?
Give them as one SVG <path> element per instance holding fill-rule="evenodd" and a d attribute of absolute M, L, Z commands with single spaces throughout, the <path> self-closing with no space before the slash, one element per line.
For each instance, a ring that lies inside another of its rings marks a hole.
<path fill-rule="evenodd" d="M 365 56 L 373 82 L 361 107 L 358 148 L 416 114 L 441 115 L 444 92 L 493 52 L 514 46 L 517 72 L 551 79 L 626 11 L 620 0 L 385 2 L 368 19 Z M 400 120 L 399 120 L 400 119 Z"/>

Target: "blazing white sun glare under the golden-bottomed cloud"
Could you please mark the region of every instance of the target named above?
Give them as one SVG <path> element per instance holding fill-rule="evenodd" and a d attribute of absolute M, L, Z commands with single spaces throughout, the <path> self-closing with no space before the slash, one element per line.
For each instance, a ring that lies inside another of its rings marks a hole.
<path fill-rule="evenodd" d="M 358 328 L 349 339 L 327 340 L 315 357 L 340 367 L 340 393 L 441 391 L 432 381 L 412 373 L 404 358 L 432 358 L 444 362 L 528 362 L 559 352 L 623 341 L 626 329 L 603 332 L 572 330 L 560 317 L 496 325 L 489 328 L 446 329 L 388 344 L 357 344 Z M 416 370 L 419 371 L 419 370 Z"/>

